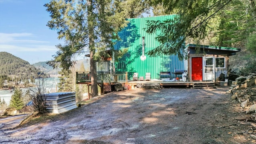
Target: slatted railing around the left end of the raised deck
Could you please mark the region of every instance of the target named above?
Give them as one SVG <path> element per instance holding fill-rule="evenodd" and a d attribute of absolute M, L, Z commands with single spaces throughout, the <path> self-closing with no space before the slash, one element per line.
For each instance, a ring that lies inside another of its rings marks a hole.
<path fill-rule="evenodd" d="M 127 72 L 97 72 L 98 82 L 123 82 L 127 83 Z M 76 82 L 91 82 L 90 72 L 76 72 Z"/>

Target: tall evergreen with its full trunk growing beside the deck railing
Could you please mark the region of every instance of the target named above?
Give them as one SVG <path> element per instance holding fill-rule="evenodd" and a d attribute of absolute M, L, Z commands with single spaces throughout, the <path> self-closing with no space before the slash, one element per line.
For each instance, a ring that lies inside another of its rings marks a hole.
<path fill-rule="evenodd" d="M 47 26 L 66 41 L 66 45 L 57 46 L 58 52 L 48 64 L 69 71 L 73 56 L 89 51 L 93 97 L 98 95 L 95 61 L 109 57 L 106 50 L 119 53 L 114 50 L 114 40 L 127 26 L 124 4 L 120 0 L 51 0 L 44 5 L 51 17 Z"/>

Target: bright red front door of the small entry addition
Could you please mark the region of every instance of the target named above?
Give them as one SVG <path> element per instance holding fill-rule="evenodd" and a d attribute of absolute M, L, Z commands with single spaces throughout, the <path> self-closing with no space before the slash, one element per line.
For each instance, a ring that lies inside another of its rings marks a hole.
<path fill-rule="evenodd" d="M 203 58 L 194 57 L 191 58 L 192 70 L 191 77 L 192 80 L 203 80 Z"/>

